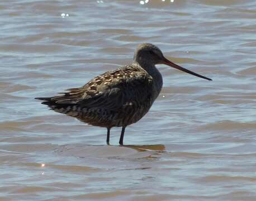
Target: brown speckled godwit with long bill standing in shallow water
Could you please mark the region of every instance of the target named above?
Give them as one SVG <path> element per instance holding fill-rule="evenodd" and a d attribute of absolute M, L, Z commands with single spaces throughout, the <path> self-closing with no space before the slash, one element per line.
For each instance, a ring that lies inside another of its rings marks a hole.
<path fill-rule="evenodd" d="M 184 69 L 164 58 L 155 45 L 145 43 L 137 47 L 134 62 L 116 70 L 96 76 L 80 88 L 44 100 L 56 112 L 76 117 L 89 125 L 107 128 L 107 144 L 110 129 L 122 127 L 119 143 L 123 145 L 125 128 L 139 121 L 150 109 L 162 89 L 162 75 L 155 67 L 165 64 L 186 73 L 211 80 Z"/>

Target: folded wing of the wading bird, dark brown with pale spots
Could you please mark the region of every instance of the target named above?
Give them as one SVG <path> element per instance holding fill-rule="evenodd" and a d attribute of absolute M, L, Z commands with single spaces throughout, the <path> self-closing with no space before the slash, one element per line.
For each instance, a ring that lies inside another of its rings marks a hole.
<path fill-rule="evenodd" d="M 152 78 L 136 66 L 125 66 L 96 76 L 80 88 L 68 89 L 63 95 L 45 100 L 49 107 L 77 104 L 80 107 L 118 109 L 129 102 L 144 102 L 151 95 Z"/>

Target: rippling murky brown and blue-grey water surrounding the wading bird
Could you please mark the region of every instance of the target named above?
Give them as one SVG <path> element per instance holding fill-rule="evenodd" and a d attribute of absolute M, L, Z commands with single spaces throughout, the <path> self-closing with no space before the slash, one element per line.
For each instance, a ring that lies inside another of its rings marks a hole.
<path fill-rule="evenodd" d="M 255 1 L 146 2 L 0 2 L 1 201 L 256 200 Z M 142 42 L 214 81 L 160 65 L 129 146 L 34 99 L 130 63 Z"/>

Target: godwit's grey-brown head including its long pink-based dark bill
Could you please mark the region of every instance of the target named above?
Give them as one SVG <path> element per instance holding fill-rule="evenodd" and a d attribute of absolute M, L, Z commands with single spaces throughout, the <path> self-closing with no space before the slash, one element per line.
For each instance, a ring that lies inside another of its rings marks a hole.
<path fill-rule="evenodd" d="M 212 80 L 210 78 L 207 78 L 206 76 L 194 73 L 193 71 L 187 70 L 177 64 L 172 63 L 172 61 L 169 61 L 164 57 L 162 51 L 157 46 L 149 43 L 140 44 L 137 47 L 134 53 L 134 61 L 140 64 L 142 67 L 147 65 L 154 66 L 156 64 L 165 64 L 178 70 L 182 70 L 186 73 L 198 76 L 200 78 Z"/>

